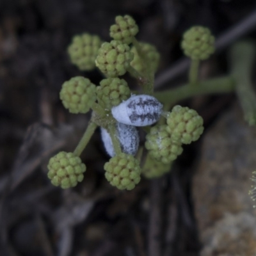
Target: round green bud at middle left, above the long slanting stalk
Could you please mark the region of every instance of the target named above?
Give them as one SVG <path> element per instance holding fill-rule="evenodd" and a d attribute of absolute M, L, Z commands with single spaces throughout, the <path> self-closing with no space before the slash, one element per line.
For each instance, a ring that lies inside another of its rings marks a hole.
<path fill-rule="evenodd" d="M 96 86 L 85 77 L 72 77 L 62 84 L 60 99 L 70 113 L 87 113 L 96 100 Z"/>

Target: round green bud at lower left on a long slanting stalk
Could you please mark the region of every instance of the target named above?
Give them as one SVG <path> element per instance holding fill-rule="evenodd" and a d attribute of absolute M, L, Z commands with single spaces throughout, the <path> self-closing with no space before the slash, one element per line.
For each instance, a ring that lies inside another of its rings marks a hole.
<path fill-rule="evenodd" d="M 86 166 L 80 157 L 75 156 L 72 152 L 64 151 L 51 157 L 47 168 L 49 170 L 48 178 L 52 185 L 60 186 L 63 189 L 75 187 L 77 182 L 83 180 L 83 173 L 86 171 Z"/>

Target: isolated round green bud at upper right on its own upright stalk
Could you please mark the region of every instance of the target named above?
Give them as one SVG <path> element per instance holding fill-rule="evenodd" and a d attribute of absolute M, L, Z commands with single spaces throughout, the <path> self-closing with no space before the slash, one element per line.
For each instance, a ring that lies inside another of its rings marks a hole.
<path fill-rule="evenodd" d="M 215 51 L 214 42 L 208 28 L 194 26 L 184 33 L 181 47 L 192 60 L 206 60 Z"/>

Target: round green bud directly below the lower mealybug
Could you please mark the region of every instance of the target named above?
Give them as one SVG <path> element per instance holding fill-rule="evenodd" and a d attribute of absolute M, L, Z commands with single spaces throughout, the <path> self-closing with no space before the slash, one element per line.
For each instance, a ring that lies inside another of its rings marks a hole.
<path fill-rule="evenodd" d="M 118 189 L 134 189 L 140 182 L 141 168 L 138 159 L 128 154 L 118 154 L 104 165 L 105 177 Z"/>

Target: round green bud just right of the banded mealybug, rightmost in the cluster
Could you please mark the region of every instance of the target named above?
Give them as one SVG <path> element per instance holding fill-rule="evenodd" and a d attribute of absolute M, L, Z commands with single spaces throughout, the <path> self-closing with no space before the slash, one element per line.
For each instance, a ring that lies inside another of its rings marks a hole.
<path fill-rule="evenodd" d="M 183 144 L 190 144 L 198 140 L 204 131 L 204 120 L 194 109 L 175 106 L 167 118 L 166 131 L 170 133 L 173 140 Z"/>

